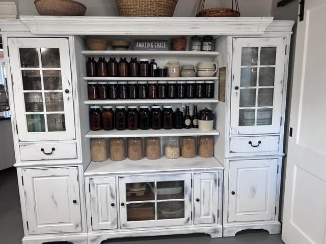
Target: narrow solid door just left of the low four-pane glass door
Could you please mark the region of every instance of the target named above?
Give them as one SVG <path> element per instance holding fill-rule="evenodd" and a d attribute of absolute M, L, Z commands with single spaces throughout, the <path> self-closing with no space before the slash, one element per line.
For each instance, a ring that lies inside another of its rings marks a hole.
<path fill-rule="evenodd" d="M 90 192 L 93 230 L 117 229 L 116 178 L 90 178 Z"/>

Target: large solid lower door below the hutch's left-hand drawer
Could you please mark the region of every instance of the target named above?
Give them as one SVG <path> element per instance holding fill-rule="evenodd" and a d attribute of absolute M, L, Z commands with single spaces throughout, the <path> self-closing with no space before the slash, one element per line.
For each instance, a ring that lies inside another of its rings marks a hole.
<path fill-rule="evenodd" d="M 77 167 L 23 169 L 30 234 L 82 231 Z"/>

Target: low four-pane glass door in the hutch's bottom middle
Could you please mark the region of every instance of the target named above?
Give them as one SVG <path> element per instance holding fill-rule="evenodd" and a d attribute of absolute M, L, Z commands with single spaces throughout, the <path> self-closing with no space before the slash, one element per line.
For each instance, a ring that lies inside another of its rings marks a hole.
<path fill-rule="evenodd" d="M 191 174 L 119 177 L 121 228 L 191 224 Z"/>

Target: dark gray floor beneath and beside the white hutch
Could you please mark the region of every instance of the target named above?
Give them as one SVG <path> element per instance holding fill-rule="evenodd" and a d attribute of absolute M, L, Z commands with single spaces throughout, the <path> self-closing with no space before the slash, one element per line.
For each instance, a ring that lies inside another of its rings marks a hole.
<path fill-rule="evenodd" d="M 17 175 L 15 168 L 0 171 L 0 243 L 19 244 L 23 237 Z M 116 244 L 284 244 L 281 235 L 266 231 L 240 232 L 235 237 L 210 238 L 208 235 L 178 235 L 123 238 L 103 241 Z M 55 244 L 52 242 L 52 244 Z M 61 243 L 62 244 L 62 243 Z M 86 243 L 85 243 L 86 244 Z"/>

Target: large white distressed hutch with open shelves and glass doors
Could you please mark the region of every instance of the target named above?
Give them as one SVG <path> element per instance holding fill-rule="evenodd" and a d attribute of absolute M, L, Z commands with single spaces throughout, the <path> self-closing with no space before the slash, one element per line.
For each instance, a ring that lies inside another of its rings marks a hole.
<path fill-rule="evenodd" d="M 246 229 L 280 233 L 292 25 L 293 21 L 273 21 L 272 17 L 20 16 L 0 20 L 10 74 L 22 242 L 100 244 L 117 237 L 187 233 L 221 237 Z M 132 40 L 180 35 L 213 35 L 214 50 L 88 51 L 85 43 L 89 36 Z M 216 87 L 213 99 L 89 101 L 86 81 L 94 78 L 86 77 L 88 56 L 154 57 L 162 64 L 177 59 L 181 65 L 215 61 L 226 67 L 225 100 L 219 101 L 215 76 L 210 77 Z M 90 104 L 153 103 L 209 107 L 217 116 L 214 130 L 89 131 Z M 214 136 L 214 157 L 91 162 L 90 138 L 172 135 Z M 157 188 L 160 181 L 182 182 L 183 194 L 178 199 L 161 199 L 154 193 L 139 201 L 126 196 L 129 183 L 153 182 Z M 166 201 L 184 204 L 180 218 L 159 218 L 157 206 Z M 155 219 L 130 221 L 127 208 L 136 203 L 155 206 Z"/>

